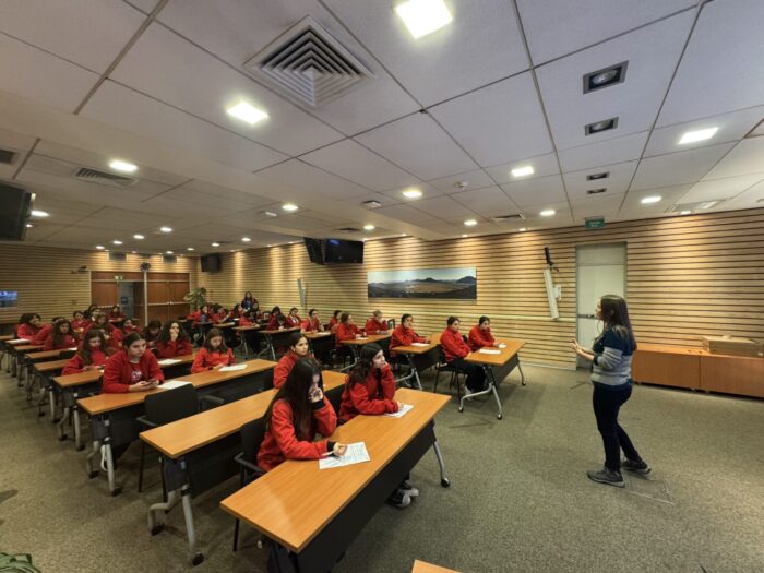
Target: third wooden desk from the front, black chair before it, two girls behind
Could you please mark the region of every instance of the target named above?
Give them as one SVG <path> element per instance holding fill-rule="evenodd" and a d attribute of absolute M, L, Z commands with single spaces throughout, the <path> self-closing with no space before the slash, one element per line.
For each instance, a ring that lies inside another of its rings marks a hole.
<path fill-rule="evenodd" d="M 272 382 L 273 369 L 276 367 L 276 362 L 267 360 L 249 360 L 243 363 L 247 365 L 243 370 L 220 372 L 219 369 L 215 369 L 181 378 L 186 382 L 191 382 L 202 394 L 214 390 L 216 395 L 226 393 L 226 398 L 240 399 L 246 395 L 254 394 L 264 384 Z M 87 454 L 86 461 L 87 474 L 91 478 L 99 475 L 100 471 L 95 469 L 93 459 L 100 453 L 100 446 L 104 445 L 106 477 L 111 496 L 121 492 L 121 488 L 115 484 L 111 449 L 138 439 L 140 428 L 135 418 L 143 414 L 143 402 L 146 396 L 157 392 L 164 391 L 158 387 L 148 392 L 98 394 L 77 401 L 77 405 L 89 414 L 93 431 L 93 451 Z"/>

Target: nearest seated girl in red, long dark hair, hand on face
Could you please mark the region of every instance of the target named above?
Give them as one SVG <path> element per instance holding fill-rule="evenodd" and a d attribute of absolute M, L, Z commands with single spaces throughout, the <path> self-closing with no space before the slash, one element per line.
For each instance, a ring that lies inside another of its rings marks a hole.
<path fill-rule="evenodd" d="M 329 441 L 337 415 L 323 394 L 321 370 L 309 359 L 298 361 L 265 413 L 265 438 L 258 465 L 270 471 L 286 459 L 341 456 L 347 445 Z M 315 440 L 321 434 L 321 440 Z"/>

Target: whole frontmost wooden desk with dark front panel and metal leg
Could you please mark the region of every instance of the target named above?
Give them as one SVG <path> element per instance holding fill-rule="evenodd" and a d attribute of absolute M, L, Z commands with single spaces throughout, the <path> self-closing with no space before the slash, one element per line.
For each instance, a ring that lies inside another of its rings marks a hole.
<path fill-rule="evenodd" d="M 318 461 L 287 461 L 220 506 L 291 551 L 298 571 L 330 571 L 431 446 L 441 485 L 450 485 L 433 423 L 450 398 L 409 389 L 399 389 L 395 397 L 414 409 L 403 418 L 357 416 L 331 437 L 366 442 L 370 462 L 321 470 Z"/>

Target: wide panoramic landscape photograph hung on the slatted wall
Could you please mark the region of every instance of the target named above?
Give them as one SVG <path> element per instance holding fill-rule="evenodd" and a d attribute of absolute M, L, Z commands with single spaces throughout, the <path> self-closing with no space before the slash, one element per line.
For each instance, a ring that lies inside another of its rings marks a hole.
<path fill-rule="evenodd" d="M 477 270 L 411 268 L 369 271 L 369 298 L 477 298 Z"/>

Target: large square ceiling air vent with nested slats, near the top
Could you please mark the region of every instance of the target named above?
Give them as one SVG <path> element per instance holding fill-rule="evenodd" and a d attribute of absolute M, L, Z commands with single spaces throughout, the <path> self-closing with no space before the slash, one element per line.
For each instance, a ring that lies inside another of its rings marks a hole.
<path fill-rule="evenodd" d="M 244 67 L 280 94 L 319 108 L 374 74 L 312 17 L 306 16 Z"/>

